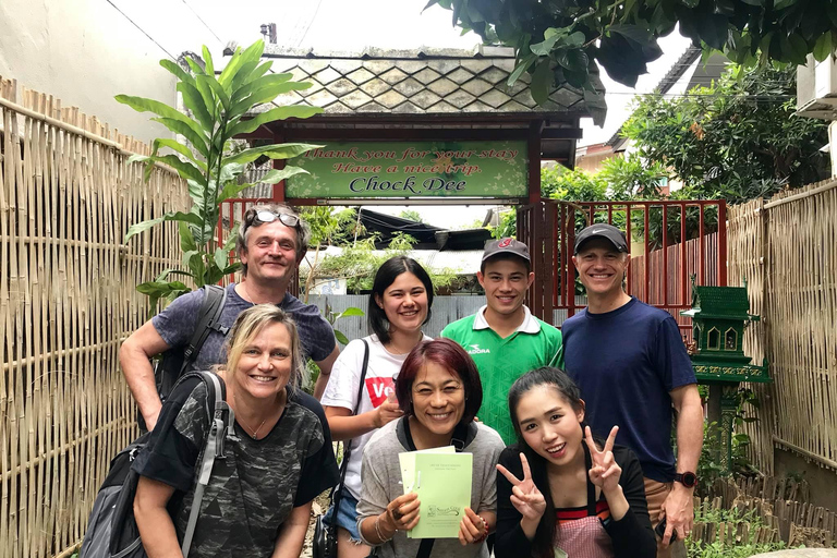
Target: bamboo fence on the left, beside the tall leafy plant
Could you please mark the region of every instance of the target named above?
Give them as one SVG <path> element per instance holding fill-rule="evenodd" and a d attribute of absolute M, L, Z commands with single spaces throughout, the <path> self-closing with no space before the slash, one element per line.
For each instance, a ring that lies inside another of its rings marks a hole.
<path fill-rule="evenodd" d="M 148 146 L 0 78 L 0 558 L 65 557 L 109 460 L 136 435 L 121 340 L 146 317 L 138 282 L 179 264 L 173 227 L 128 227 L 187 207 Z M 20 102 L 20 104 L 19 104 Z"/>

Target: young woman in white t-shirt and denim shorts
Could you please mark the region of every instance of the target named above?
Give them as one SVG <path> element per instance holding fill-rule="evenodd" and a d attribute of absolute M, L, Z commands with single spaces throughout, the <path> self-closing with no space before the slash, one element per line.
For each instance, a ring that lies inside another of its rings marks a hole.
<path fill-rule="evenodd" d="M 323 396 L 331 434 L 336 440 L 351 439 L 351 454 L 337 515 L 338 557 L 365 558 L 369 549 L 361 544 L 355 508 L 361 497 L 361 457 L 376 428 L 402 415 L 395 400 L 393 378 L 408 353 L 422 339 L 422 326 L 430 317 L 433 283 L 427 271 L 412 258 L 397 256 L 385 262 L 375 274 L 369 294 L 368 337 L 350 342 L 337 359 Z M 360 401 L 363 361 L 368 347 L 368 364 Z M 357 409 L 357 413 L 353 411 Z"/>

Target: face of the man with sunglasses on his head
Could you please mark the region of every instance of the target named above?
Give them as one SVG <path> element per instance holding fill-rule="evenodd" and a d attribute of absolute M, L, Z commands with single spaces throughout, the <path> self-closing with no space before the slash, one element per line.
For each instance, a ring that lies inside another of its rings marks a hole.
<path fill-rule="evenodd" d="M 280 221 L 251 227 L 241 263 L 247 266 L 247 280 L 287 283 L 296 269 L 296 230 Z"/>

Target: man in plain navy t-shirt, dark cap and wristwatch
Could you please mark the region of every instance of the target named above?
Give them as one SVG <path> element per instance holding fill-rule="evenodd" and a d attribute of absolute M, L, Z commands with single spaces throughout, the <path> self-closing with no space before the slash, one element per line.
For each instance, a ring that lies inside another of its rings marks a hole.
<path fill-rule="evenodd" d="M 622 289 L 628 243 L 616 227 L 593 225 L 575 239 L 572 258 L 587 307 L 561 327 L 565 366 L 586 403 L 591 428 L 631 448 L 645 476 L 652 524 L 666 520 L 657 556 L 684 556 L 694 521 L 694 471 L 703 444 L 703 407 L 677 322 Z M 677 411 L 677 460 L 671 410 Z M 668 542 L 677 533 L 678 542 Z"/>

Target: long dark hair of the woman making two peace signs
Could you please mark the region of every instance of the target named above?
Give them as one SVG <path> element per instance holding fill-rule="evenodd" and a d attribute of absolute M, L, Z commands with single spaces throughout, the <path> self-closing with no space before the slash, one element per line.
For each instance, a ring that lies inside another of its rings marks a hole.
<path fill-rule="evenodd" d="M 538 386 L 554 388 L 570 403 L 570 407 L 575 412 L 584 409 L 584 402 L 581 400 L 579 387 L 567 373 L 550 366 L 543 366 L 525 373 L 512 384 L 509 390 L 509 413 L 511 415 L 511 424 L 514 426 L 514 433 L 518 435 L 518 447 L 526 456 L 530 469 L 532 470 L 532 481 L 546 500 L 546 510 L 541 517 L 537 531 L 535 531 L 535 538 L 532 541 L 533 554 L 538 558 L 554 558 L 554 545 L 558 537 L 558 526 L 555 521 L 555 504 L 553 502 L 553 495 L 549 489 L 546 460 L 529 447 L 529 444 L 523 439 L 520 422 L 518 421 L 518 403 L 520 403 L 520 399 L 531 389 Z M 584 425 L 581 427 L 583 428 Z"/>

